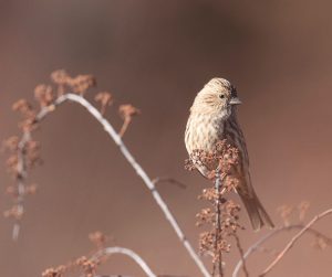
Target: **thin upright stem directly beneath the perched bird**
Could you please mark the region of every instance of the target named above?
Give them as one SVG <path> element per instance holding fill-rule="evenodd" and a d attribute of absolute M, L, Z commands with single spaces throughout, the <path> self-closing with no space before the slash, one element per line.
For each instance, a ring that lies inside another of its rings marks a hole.
<path fill-rule="evenodd" d="M 221 242 L 222 237 L 221 235 L 221 209 L 220 209 L 220 187 L 221 187 L 221 178 L 220 178 L 220 171 L 216 170 L 216 180 L 215 180 L 215 191 L 216 191 L 216 231 L 215 231 L 215 253 L 218 252 L 218 259 L 214 262 L 214 269 L 212 269 L 212 276 L 216 274 L 216 269 L 218 269 L 218 273 L 221 277 L 224 277 L 224 268 L 222 268 L 222 252 L 221 249 L 218 249 L 218 243 Z"/>

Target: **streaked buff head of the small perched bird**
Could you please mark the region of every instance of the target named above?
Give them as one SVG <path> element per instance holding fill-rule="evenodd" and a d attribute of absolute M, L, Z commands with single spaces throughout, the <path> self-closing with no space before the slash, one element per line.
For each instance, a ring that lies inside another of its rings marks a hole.
<path fill-rule="evenodd" d="M 212 78 L 197 94 L 191 110 L 230 115 L 235 105 L 241 104 L 236 88 L 225 78 Z"/>

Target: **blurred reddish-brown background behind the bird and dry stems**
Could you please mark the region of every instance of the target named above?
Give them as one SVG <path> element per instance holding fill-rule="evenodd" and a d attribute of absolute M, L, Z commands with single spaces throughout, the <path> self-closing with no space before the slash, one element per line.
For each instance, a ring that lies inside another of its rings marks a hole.
<path fill-rule="evenodd" d="M 331 9 L 328 0 L 1 1 L 0 139 L 19 134 L 11 104 L 32 100 L 34 86 L 49 82 L 52 71 L 94 74 L 116 106 L 142 109 L 125 142 L 148 174 L 188 184 L 159 189 L 196 246 L 195 214 L 206 205 L 197 195 L 209 184 L 184 170 L 183 135 L 196 93 L 222 76 L 243 102 L 239 118 L 263 204 L 280 225 L 279 205 L 308 200 L 309 220 L 331 206 Z M 116 106 L 107 117 L 118 128 Z M 111 245 L 139 253 L 158 274 L 199 276 L 142 181 L 87 113 L 66 104 L 35 138 L 44 164 L 31 180 L 40 190 L 25 202 L 18 243 L 10 238 L 11 221 L 0 220 L 1 276 L 40 276 L 86 254 L 87 234 L 96 230 L 115 238 Z M 4 191 L 11 179 L 6 156 L 0 159 Z M 9 206 L 0 193 L 0 210 Z M 331 234 L 331 219 L 318 227 Z M 245 248 L 266 232 L 242 232 Z M 283 246 L 289 235 L 274 245 Z M 331 276 L 331 249 L 312 249 L 310 242 L 300 242 L 270 276 Z M 234 249 L 228 274 L 238 258 Z M 252 276 L 270 259 L 252 256 Z M 143 276 L 120 256 L 101 273 Z"/>

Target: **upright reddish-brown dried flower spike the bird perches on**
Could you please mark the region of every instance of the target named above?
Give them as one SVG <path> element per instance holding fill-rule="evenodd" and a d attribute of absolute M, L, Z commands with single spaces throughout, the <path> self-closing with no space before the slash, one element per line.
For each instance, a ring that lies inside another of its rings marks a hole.
<path fill-rule="evenodd" d="M 197 215 L 197 225 L 209 224 L 212 228 L 200 234 L 199 249 L 212 257 L 212 276 L 224 276 L 222 254 L 230 251 L 229 237 L 237 237 L 240 206 L 227 200 L 226 193 L 237 188 L 238 180 L 231 174 L 232 167 L 238 163 L 238 150 L 221 140 L 216 143 L 214 152 L 195 150 L 186 160 L 186 169 L 198 167 L 210 169 L 209 179 L 214 187 L 203 190 L 199 199 L 208 201 L 211 207 L 203 209 Z"/>

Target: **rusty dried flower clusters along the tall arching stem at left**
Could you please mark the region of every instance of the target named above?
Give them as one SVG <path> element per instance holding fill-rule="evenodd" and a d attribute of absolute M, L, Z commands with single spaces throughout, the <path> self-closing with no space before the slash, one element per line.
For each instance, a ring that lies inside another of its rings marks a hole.
<path fill-rule="evenodd" d="M 41 120 L 46 115 L 55 110 L 56 106 L 63 103 L 63 96 L 73 93 L 83 97 L 89 88 L 96 85 L 96 81 L 92 75 L 71 77 L 64 70 L 53 72 L 51 79 L 55 87 L 40 84 L 34 88 L 34 98 L 40 106 L 39 109 L 34 109 L 33 105 L 25 99 L 19 99 L 12 105 L 12 109 L 19 111 L 23 118 L 19 122 L 22 137 L 13 136 L 3 142 L 4 148 L 10 152 L 7 167 L 15 180 L 15 183 L 7 189 L 7 192 L 13 198 L 13 205 L 4 212 L 4 216 L 13 217 L 17 221 L 13 231 L 14 238 L 18 236 L 19 221 L 24 212 L 24 195 L 34 193 L 37 190 L 35 184 L 27 183 L 28 170 L 41 162 L 40 143 L 32 139 L 32 132 L 39 127 Z M 100 92 L 95 95 L 95 100 L 101 104 L 100 113 L 104 116 L 106 108 L 113 103 L 113 97 L 107 92 Z M 122 105 L 120 114 L 124 119 L 121 129 L 121 135 L 123 135 L 133 116 L 138 115 L 139 110 L 132 105 Z"/>

